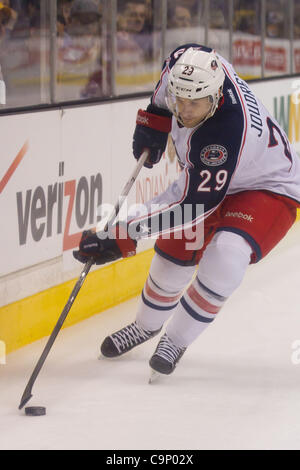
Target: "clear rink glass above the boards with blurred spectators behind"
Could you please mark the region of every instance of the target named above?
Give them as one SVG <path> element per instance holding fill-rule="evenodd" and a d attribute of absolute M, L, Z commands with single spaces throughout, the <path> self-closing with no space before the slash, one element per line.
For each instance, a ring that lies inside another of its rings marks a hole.
<path fill-rule="evenodd" d="M 300 72 L 300 0 L 5 3 L 0 112 L 149 95 L 186 42 L 215 48 L 248 80 Z"/>

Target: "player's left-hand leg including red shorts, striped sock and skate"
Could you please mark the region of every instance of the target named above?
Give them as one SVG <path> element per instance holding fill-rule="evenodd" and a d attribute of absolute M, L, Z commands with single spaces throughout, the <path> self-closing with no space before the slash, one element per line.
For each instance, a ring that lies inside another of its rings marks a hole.
<path fill-rule="evenodd" d="M 155 336 L 164 322 L 172 315 L 183 290 L 190 283 L 205 246 L 211 240 L 216 217 L 211 217 L 204 231 L 204 244 L 185 233 L 171 235 L 168 239 L 159 238 L 155 244 L 148 279 L 145 283 L 136 320 L 130 325 L 105 338 L 101 352 L 106 357 L 120 356 L 135 346 Z M 199 244 L 198 244 L 199 243 Z"/>

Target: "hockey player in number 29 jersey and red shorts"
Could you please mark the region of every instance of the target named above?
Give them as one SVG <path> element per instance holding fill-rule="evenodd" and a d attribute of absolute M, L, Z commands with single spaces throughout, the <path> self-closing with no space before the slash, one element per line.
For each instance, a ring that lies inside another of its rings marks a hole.
<path fill-rule="evenodd" d="M 166 59 L 147 110 L 137 114 L 134 156 L 150 149 L 152 167 L 169 132 L 182 172 L 155 198 L 167 204 L 164 209 L 151 212 L 147 205 L 147 215 L 115 227 L 115 239 L 84 232 L 74 252 L 78 260 L 94 257 L 98 264 L 126 257 L 145 234 L 162 234 L 162 213 L 203 205 L 202 217 L 194 210 L 185 221 L 197 232 L 204 219 L 203 246 L 187 249 L 184 232 L 181 238 L 160 236 L 135 321 L 101 346 L 104 356 L 120 356 L 157 335 L 171 317 L 150 359 L 162 374 L 173 372 L 240 285 L 247 266 L 277 245 L 300 207 L 300 160 L 285 132 L 232 65 L 208 47 L 183 45 Z M 184 228 L 178 218 L 170 221 L 173 231 Z"/>

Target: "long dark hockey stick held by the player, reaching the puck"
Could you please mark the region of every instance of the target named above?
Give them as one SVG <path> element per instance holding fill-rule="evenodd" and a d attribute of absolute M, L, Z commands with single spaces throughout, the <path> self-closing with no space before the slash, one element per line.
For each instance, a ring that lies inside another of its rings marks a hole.
<path fill-rule="evenodd" d="M 117 217 L 117 215 L 119 214 L 120 212 L 120 209 L 121 209 L 121 206 L 124 202 L 124 199 L 125 197 L 129 194 L 129 191 L 131 190 L 134 182 L 136 181 L 137 177 L 138 177 L 138 174 L 139 172 L 141 171 L 142 169 L 142 166 L 144 165 L 146 159 L 148 158 L 148 155 L 149 155 L 149 152 L 146 150 L 142 153 L 140 159 L 138 160 L 137 162 L 137 165 L 136 165 L 136 168 L 134 169 L 132 175 L 130 176 L 129 180 L 127 181 L 126 185 L 124 186 L 124 189 L 122 191 L 122 193 L 120 194 L 119 196 L 119 199 L 118 199 L 118 202 L 116 203 L 115 207 L 114 207 L 114 210 L 110 216 L 110 218 L 108 219 L 108 222 L 106 223 L 105 225 L 105 228 L 104 228 L 104 231 L 107 230 L 107 228 L 109 227 L 110 224 L 112 224 L 112 222 L 115 220 L 115 218 Z M 82 284 L 84 283 L 85 281 L 85 278 L 86 276 L 88 275 L 88 272 L 89 270 L 91 269 L 92 265 L 94 263 L 94 260 L 91 258 L 87 261 L 87 263 L 84 265 L 84 268 L 83 270 L 81 271 L 81 274 L 70 294 L 70 297 L 68 298 L 68 301 L 48 339 L 48 342 L 41 354 L 41 357 L 39 358 L 34 370 L 33 370 L 33 373 L 28 381 L 28 384 L 26 385 L 26 388 L 24 390 L 24 393 L 22 395 L 22 398 L 21 398 L 21 401 L 20 401 L 20 405 L 19 405 L 19 410 L 21 410 L 23 408 L 23 406 L 30 400 L 30 398 L 32 397 L 32 388 L 33 388 L 33 385 L 37 379 L 37 376 L 39 375 L 40 371 L 41 371 L 41 368 L 43 367 L 43 364 L 50 352 L 50 349 L 52 348 L 52 345 L 60 331 L 60 329 L 62 328 L 63 326 L 63 323 L 65 321 L 65 319 L 67 318 L 67 315 L 73 305 L 73 302 L 75 300 L 75 298 L 77 297 L 77 294 L 78 292 L 80 291 L 81 287 L 82 287 Z"/>

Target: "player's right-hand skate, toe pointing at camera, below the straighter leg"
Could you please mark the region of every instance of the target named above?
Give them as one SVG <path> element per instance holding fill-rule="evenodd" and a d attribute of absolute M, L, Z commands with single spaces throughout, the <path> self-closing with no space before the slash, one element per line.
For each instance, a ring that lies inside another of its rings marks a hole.
<path fill-rule="evenodd" d="M 151 367 L 149 383 L 152 383 L 160 375 L 171 374 L 185 351 L 186 348 L 179 348 L 167 334 L 164 334 L 149 361 Z"/>

